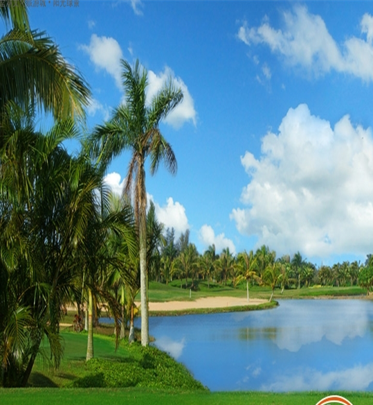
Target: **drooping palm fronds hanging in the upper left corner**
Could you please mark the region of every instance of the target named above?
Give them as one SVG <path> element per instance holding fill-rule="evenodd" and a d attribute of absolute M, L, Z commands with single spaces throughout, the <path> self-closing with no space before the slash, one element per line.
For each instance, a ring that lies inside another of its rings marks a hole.
<path fill-rule="evenodd" d="M 0 114 L 10 101 L 55 119 L 84 118 L 91 93 L 45 33 L 31 31 L 25 1 L 7 1 L 0 15 L 12 29 L 0 39 Z"/>

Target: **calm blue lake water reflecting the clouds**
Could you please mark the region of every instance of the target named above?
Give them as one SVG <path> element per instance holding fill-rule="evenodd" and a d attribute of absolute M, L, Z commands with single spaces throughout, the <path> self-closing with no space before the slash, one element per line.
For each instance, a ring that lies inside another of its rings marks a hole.
<path fill-rule="evenodd" d="M 210 390 L 373 390 L 373 303 L 149 319 L 155 345 Z"/>

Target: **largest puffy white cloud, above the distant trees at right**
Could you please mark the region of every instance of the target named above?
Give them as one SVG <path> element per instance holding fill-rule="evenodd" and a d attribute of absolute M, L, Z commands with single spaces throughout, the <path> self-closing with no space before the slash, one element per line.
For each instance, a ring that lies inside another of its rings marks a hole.
<path fill-rule="evenodd" d="M 230 218 L 257 245 L 320 258 L 372 250 L 370 128 L 348 115 L 331 128 L 302 104 L 287 112 L 278 133 L 262 138 L 258 159 L 246 151 L 241 162 L 250 178 L 241 195 L 246 207 Z"/>

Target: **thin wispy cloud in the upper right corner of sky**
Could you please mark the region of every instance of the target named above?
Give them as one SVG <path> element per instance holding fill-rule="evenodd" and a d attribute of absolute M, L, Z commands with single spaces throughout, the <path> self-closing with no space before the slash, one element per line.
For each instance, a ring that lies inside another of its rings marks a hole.
<path fill-rule="evenodd" d="M 275 29 L 265 19 L 259 27 L 247 22 L 237 37 L 248 46 L 266 45 L 291 66 L 300 66 L 313 74 L 334 70 L 373 80 L 373 17 L 363 15 L 360 37 L 349 37 L 339 46 L 329 34 L 325 21 L 311 14 L 306 6 L 294 6 L 282 15 L 284 28 Z"/>

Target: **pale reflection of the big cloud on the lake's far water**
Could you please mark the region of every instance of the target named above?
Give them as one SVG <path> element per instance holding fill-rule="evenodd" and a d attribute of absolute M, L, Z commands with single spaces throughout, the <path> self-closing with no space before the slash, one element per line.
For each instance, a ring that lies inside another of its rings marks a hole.
<path fill-rule="evenodd" d="M 271 339 L 280 348 L 298 352 L 300 347 L 320 342 L 322 338 L 341 345 L 345 338 L 363 336 L 370 328 L 365 302 L 358 300 L 338 301 L 288 301 L 282 302 L 278 317 L 255 314 L 255 325 L 238 329 L 238 338 L 255 340 Z M 352 305 L 353 303 L 353 305 Z M 325 311 L 327 307 L 328 311 Z M 233 314 L 235 322 L 247 320 L 250 313 Z M 272 315 L 272 314 L 271 314 Z M 270 326 L 270 325 L 278 326 Z M 281 326 L 280 326 L 281 325 Z"/>

